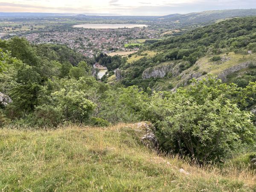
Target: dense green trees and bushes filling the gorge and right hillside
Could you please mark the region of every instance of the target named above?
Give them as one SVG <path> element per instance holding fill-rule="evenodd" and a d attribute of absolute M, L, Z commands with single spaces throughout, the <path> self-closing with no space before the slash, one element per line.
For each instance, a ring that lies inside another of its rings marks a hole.
<path fill-rule="evenodd" d="M 255 146 L 255 117 L 250 109 L 256 104 L 256 82 L 239 87 L 208 76 L 172 93 L 142 87 L 140 78 L 145 68 L 163 61 L 183 60 L 187 64 L 180 67 L 183 70 L 205 54 L 256 52 L 256 17 L 149 43 L 148 49 L 159 53 L 132 64 L 119 56 L 95 58 L 109 71 L 134 67 L 122 80 L 126 87 L 97 81 L 91 76 L 94 61 L 64 46 L 31 45 L 12 38 L 0 41 L 0 48 L 1 127 L 105 127 L 148 120 L 155 126 L 160 149 L 197 163 L 219 162 Z"/>

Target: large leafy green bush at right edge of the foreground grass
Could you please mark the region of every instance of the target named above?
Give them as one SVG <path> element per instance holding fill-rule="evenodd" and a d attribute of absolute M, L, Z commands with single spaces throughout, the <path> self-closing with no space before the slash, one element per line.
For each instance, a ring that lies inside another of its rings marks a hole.
<path fill-rule="evenodd" d="M 255 139 L 250 113 L 230 99 L 234 87 L 209 79 L 188 90 L 155 93 L 145 114 L 154 123 L 160 147 L 198 163 L 219 161 L 241 143 Z"/>

